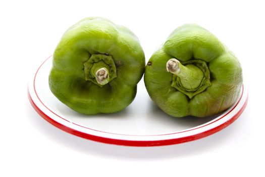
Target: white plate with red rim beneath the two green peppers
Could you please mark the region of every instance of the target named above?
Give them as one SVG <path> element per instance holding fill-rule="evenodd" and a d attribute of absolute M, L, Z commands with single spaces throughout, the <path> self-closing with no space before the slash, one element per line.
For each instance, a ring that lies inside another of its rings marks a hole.
<path fill-rule="evenodd" d="M 46 59 L 28 85 L 29 100 L 48 122 L 70 134 L 93 141 L 126 146 L 163 146 L 206 137 L 234 122 L 247 105 L 242 86 L 237 102 L 216 116 L 175 118 L 150 100 L 143 79 L 131 105 L 113 114 L 83 115 L 61 103 L 49 90 L 48 74 L 52 57 Z"/>

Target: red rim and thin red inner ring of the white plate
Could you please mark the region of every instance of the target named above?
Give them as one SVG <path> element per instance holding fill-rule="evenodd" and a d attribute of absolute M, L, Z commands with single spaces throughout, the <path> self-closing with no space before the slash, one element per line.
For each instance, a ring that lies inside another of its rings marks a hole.
<path fill-rule="evenodd" d="M 51 56 L 50 56 L 51 57 Z M 47 108 L 43 103 L 42 101 L 39 99 L 38 97 L 38 94 L 35 90 L 35 78 L 36 78 L 36 75 L 39 71 L 39 69 L 41 68 L 41 66 L 50 58 L 48 57 L 40 66 L 39 68 L 37 69 L 35 75 L 34 75 L 34 81 L 33 81 L 33 87 L 34 87 L 34 92 L 37 96 L 37 99 L 40 101 L 40 103 L 45 107 Z M 242 86 L 242 89 L 244 90 L 244 87 Z M 239 101 L 241 100 L 243 96 L 243 91 L 242 91 L 242 94 L 241 94 L 241 97 L 240 99 L 238 100 L 237 104 L 228 112 L 226 113 L 225 115 L 221 116 L 220 118 L 218 118 L 217 120 L 213 121 L 213 122 L 210 122 L 209 124 L 211 123 L 214 123 L 220 119 L 222 119 L 223 117 L 225 117 L 227 114 L 229 114 L 239 103 Z M 81 137 L 81 138 L 85 138 L 85 139 L 88 139 L 88 140 L 92 140 L 92 141 L 96 141 L 96 142 L 101 142 L 101 143 L 107 143 L 107 144 L 115 144 L 115 145 L 123 145 L 123 146 L 138 146 L 138 147 L 144 147 L 144 146 L 165 146 L 165 145 L 173 145 L 173 144 L 180 144 L 180 143 L 185 143 L 185 142 L 189 142 L 189 141 L 193 141 L 193 140 L 197 140 L 197 139 L 201 139 L 201 138 L 204 138 L 204 137 L 207 137 L 209 135 L 212 135 L 212 134 L 215 134 L 216 132 L 222 130 L 223 128 L 227 127 L 228 125 L 230 125 L 231 123 L 233 123 L 241 114 L 242 112 L 244 111 L 246 105 L 247 105 L 247 102 L 248 102 L 248 94 L 247 94 L 247 97 L 246 97 L 246 100 L 243 104 L 243 106 L 241 107 L 241 109 L 233 116 L 231 117 L 229 120 L 227 120 L 226 122 L 218 125 L 218 126 L 215 126 L 211 129 L 208 129 L 206 131 L 203 131 L 203 132 L 199 132 L 198 134 L 194 134 L 194 135 L 190 135 L 190 136 L 186 136 L 186 137 L 180 137 L 180 138 L 174 138 L 174 139 L 166 139 L 166 140 L 151 140 L 151 141 L 148 141 L 148 140 L 145 140 L 145 141 L 138 141 L 138 140 L 121 140 L 121 139 L 113 139 L 113 138 L 105 138 L 105 137 L 100 137 L 100 136 L 95 136 L 95 135 L 91 135 L 91 134 L 87 134 L 85 132 L 82 132 L 82 131 L 79 131 L 77 129 L 74 129 L 74 128 L 71 128 L 71 127 L 68 127 L 64 124 L 61 124 L 59 123 L 58 121 L 52 119 L 51 117 L 49 117 L 48 115 L 46 115 L 35 103 L 34 101 L 32 100 L 31 98 L 31 95 L 30 95 L 30 92 L 29 92 L 29 89 L 28 89 L 28 98 L 29 98 L 29 101 L 32 105 L 32 107 L 35 109 L 35 111 L 42 117 L 44 118 L 46 121 L 48 121 L 49 123 L 51 123 L 52 125 L 72 134 L 72 135 L 75 135 L 75 136 L 78 136 L 78 137 Z M 48 108 L 47 108 L 48 109 Z M 48 109 L 50 112 L 52 112 L 50 109 Z M 53 114 L 57 115 L 56 113 L 52 112 Z M 57 115 L 58 116 L 58 115 Z M 67 119 L 64 119 L 63 117 L 59 116 L 60 118 L 62 118 L 63 120 L 65 121 L 68 121 Z M 68 121 L 69 122 L 69 121 Z M 74 123 L 76 124 L 76 123 Z M 79 124 L 76 124 L 78 126 L 81 126 L 81 127 L 84 127 L 82 125 L 79 125 Z M 178 131 L 176 133 L 173 133 L 173 134 L 178 134 L 180 132 L 185 132 L 185 131 L 191 131 L 191 130 L 194 130 L 194 129 L 198 129 L 198 128 L 201 128 L 203 126 L 207 126 L 208 124 L 203 124 L 201 126 L 198 126 L 198 127 L 195 127 L 195 128 L 191 128 L 189 130 L 183 130 L 183 131 Z M 88 128 L 88 127 L 84 127 L 84 128 Z M 94 130 L 94 131 L 99 131 L 99 130 L 95 130 L 95 129 L 91 129 L 91 128 L 88 128 L 90 130 Z M 107 134 L 114 134 L 114 133 L 111 133 L 111 132 L 104 132 L 104 131 L 100 131 L 100 132 L 103 132 L 103 133 L 107 133 Z M 122 135 L 122 134 L 117 134 L 117 135 Z M 164 134 L 164 135 L 169 135 L 169 134 Z M 123 135 L 123 136 L 132 136 L 132 135 Z M 163 136 L 163 135 L 154 135 L 154 136 Z"/>

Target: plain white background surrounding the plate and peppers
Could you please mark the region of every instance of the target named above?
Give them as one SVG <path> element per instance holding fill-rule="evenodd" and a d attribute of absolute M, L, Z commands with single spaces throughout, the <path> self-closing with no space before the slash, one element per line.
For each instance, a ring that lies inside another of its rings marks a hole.
<path fill-rule="evenodd" d="M 0 176 L 264 176 L 264 9 L 261 1 L 1 1 Z M 31 107 L 27 83 L 64 31 L 89 16 L 131 29 L 146 62 L 176 27 L 203 26 L 239 58 L 247 108 L 215 135 L 164 147 L 97 143 L 52 126 Z"/>

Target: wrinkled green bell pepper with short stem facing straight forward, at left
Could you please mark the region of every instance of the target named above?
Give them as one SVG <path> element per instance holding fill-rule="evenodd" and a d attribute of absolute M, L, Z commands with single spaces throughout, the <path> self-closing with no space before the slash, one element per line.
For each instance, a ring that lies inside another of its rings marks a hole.
<path fill-rule="evenodd" d="M 85 18 L 63 34 L 49 87 L 77 112 L 114 113 L 135 98 L 144 67 L 143 50 L 129 29 L 104 18 Z"/>

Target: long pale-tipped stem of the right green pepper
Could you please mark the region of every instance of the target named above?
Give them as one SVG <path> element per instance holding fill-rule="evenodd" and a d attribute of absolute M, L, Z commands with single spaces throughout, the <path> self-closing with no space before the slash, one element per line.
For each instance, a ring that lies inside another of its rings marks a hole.
<path fill-rule="evenodd" d="M 175 58 L 167 62 L 166 68 L 168 72 L 180 77 L 183 87 L 187 90 L 193 90 L 199 87 L 204 76 L 201 69 L 197 66 L 193 64 L 184 66 Z"/>

